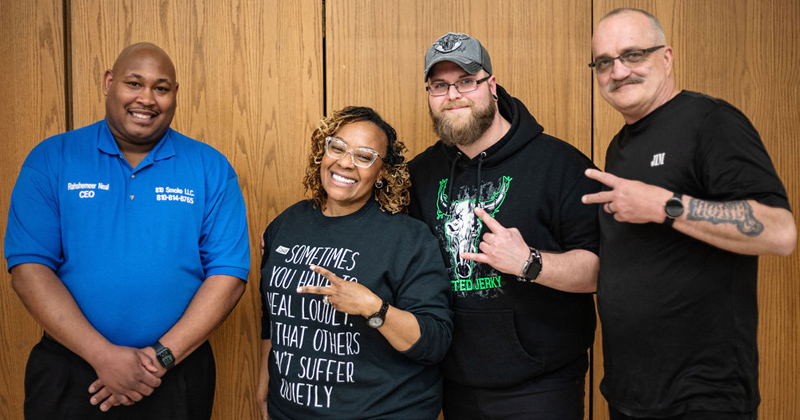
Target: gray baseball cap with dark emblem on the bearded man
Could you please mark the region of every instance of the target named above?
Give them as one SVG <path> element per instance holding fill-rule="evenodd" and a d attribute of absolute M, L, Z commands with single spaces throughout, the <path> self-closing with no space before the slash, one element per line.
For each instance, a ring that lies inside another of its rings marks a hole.
<path fill-rule="evenodd" d="M 492 61 L 486 48 L 467 34 L 448 32 L 428 48 L 425 53 L 424 81 L 428 81 L 428 73 L 441 61 L 452 61 L 469 74 L 475 74 L 481 69 L 492 74 Z"/>

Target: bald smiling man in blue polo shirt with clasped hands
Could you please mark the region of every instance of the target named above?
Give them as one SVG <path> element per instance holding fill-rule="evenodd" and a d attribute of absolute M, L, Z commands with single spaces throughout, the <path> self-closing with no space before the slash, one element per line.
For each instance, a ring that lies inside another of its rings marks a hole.
<path fill-rule="evenodd" d="M 5 257 L 45 331 L 26 419 L 211 417 L 206 340 L 244 292 L 247 221 L 227 159 L 169 127 L 177 92 L 169 56 L 131 45 L 103 77 L 106 118 L 22 167 Z"/>

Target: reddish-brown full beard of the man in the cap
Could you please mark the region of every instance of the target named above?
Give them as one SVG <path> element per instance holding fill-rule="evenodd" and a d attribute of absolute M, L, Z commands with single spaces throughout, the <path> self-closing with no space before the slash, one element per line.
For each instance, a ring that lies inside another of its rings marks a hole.
<path fill-rule="evenodd" d="M 472 115 L 464 116 L 466 121 L 458 123 L 454 117 L 447 116 L 442 112 L 447 108 L 434 112 L 428 104 L 433 131 L 448 146 L 469 146 L 478 141 L 483 133 L 491 127 L 497 113 L 497 104 L 492 100 L 488 100 L 485 106 L 478 106 L 472 102 L 455 102 L 448 105 L 448 108 L 465 105 L 470 107 Z"/>

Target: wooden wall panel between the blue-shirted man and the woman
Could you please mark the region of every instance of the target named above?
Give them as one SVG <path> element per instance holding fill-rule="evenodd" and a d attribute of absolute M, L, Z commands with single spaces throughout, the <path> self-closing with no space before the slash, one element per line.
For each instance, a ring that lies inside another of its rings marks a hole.
<path fill-rule="evenodd" d="M 173 128 L 225 154 L 247 203 L 253 270 L 212 336 L 214 418 L 256 418 L 260 233 L 302 197 L 307 139 L 322 116 L 322 7 L 303 0 L 72 1 L 75 127 L 105 113 L 100 80 L 126 45 L 169 53 L 180 83 Z"/>

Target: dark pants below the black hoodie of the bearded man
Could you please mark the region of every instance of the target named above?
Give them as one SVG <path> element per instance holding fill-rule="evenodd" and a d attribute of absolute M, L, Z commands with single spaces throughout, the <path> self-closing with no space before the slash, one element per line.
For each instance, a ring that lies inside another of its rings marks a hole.
<path fill-rule="evenodd" d="M 448 420 L 583 420 L 584 377 L 544 378 L 510 388 L 444 381 Z"/>

